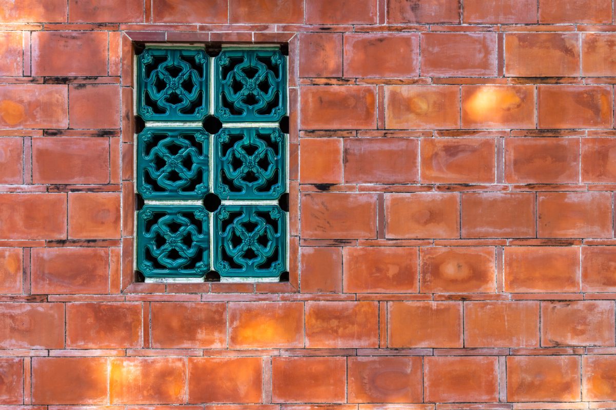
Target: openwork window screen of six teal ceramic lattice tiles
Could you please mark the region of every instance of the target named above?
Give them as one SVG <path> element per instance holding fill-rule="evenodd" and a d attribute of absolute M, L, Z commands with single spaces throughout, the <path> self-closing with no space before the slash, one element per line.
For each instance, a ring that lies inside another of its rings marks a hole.
<path fill-rule="evenodd" d="M 137 270 L 147 281 L 286 271 L 287 106 L 278 47 L 137 57 Z"/>

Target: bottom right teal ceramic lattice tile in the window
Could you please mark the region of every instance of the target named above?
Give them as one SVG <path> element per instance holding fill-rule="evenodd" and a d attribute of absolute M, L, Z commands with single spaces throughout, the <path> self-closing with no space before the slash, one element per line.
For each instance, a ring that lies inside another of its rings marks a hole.
<path fill-rule="evenodd" d="M 286 270 L 286 215 L 274 205 L 222 205 L 214 213 L 221 277 L 278 277 Z"/>

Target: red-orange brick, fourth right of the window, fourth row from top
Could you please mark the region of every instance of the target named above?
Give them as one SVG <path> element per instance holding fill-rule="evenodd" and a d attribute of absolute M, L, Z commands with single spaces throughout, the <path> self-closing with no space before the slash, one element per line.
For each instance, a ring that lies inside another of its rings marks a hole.
<path fill-rule="evenodd" d="M 565 184 L 580 181 L 578 138 L 505 138 L 505 181 Z"/>

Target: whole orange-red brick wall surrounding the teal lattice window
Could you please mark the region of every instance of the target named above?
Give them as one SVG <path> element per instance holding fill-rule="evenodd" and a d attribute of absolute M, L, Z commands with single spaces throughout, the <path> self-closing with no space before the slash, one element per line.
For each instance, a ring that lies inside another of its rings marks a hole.
<path fill-rule="evenodd" d="M 0 409 L 616 408 L 612 0 L 0 6 Z M 289 43 L 288 283 L 134 283 L 144 41 Z"/>

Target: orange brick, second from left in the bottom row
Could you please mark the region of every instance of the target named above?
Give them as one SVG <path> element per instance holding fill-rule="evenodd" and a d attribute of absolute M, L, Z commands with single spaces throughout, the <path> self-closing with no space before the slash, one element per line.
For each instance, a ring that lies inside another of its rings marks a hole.
<path fill-rule="evenodd" d="M 106 404 L 105 357 L 32 358 L 33 404 Z"/>

